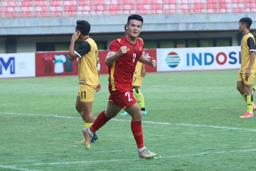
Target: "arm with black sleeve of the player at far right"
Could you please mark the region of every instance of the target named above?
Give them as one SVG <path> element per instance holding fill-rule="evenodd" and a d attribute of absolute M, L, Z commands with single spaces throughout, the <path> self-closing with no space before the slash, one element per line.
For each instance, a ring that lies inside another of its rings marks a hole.
<path fill-rule="evenodd" d="M 248 68 L 245 72 L 245 76 L 248 77 L 252 73 L 252 67 L 253 67 L 254 60 L 255 60 L 255 55 L 256 55 L 256 46 L 255 46 L 254 38 L 249 37 L 247 39 L 247 45 L 248 45 L 248 47 L 250 49 L 250 52 L 251 52 L 250 63 L 249 63 L 249 66 L 248 66 Z"/>

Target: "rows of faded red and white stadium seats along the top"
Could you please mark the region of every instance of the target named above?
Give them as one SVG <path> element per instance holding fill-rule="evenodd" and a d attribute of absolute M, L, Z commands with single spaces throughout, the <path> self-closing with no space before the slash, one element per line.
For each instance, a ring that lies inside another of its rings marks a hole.
<path fill-rule="evenodd" d="M 255 0 L 0 0 L 0 16 L 255 12 Z"/>

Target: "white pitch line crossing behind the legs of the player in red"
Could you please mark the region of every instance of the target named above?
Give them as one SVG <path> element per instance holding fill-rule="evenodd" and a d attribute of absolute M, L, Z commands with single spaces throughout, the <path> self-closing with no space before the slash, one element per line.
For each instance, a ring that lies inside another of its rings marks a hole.
<path fill-rule="evenodd" d="M 62 118 L 79 118 L 81 117 L 69 117 L 69 116 L 58 116 L 58 115 L 41 115 L 41 114 L 21 114 L 21 113 L 1 113 L 0 114 L 11 114 L 11 115 L 32 115 L 32 116 L 52 116 L 52 117 L 62 117 Z M 122 119 L 111 119 L 112 121 L 125 121 L 125 122 L 131 122 L 130 120 L 122 120 Z M 224 127 L 224 126 L 211 126 L 211 125 L 193 125 L 193 124 L 174 124 L 174 123 L 168 123 L 168 122 L 151 122 L 151 121 L 141 121 L 143 123 L 151 123 L 151 124 L 163 124 L 163 125 L 184 125 L 184 126 L 198 126 L 198 127 L 212 127 L 212 128 L 218 128 L 218 129 L 230 129 L 230 130 L 244 130 L 244 131 L 253 131 L 256 132 L 256 130 L 253 129 L 245 129 L 245 128 L 234 128 L 234 127 Z"/>

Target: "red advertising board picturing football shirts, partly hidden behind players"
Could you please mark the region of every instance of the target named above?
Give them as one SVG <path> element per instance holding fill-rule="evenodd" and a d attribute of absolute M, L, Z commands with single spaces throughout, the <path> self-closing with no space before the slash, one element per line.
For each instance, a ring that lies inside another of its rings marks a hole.
<path fill-rule="evenodd" d="M 147 58 L 156 60 L 156 49 L 145 49 Z M 108 73 L 105 59 L 109 50 L 99 50 L 100 73 Z M 36 52 L 36 76 L 40 75 L 68 75 L 77 73 L 77 59 L 69 60 L 68 51 Z M 156 72 L 156 67 L 145 66 L 146 72 Z"/>

